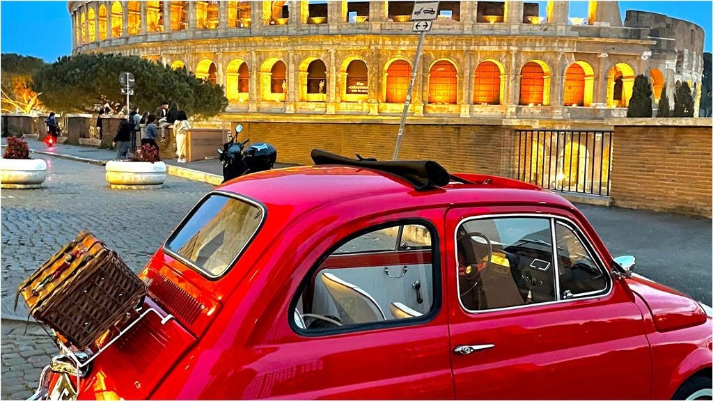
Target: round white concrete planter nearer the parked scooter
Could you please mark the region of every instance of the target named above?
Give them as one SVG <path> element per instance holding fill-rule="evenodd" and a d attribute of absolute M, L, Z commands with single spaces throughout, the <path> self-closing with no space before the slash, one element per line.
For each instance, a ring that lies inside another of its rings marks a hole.
<path fill-rule="evenodd" d="M 114 189 L 163 188 L 166 180 L 166 165 L 163 161 L 108 161 L 106 181 Z"/>

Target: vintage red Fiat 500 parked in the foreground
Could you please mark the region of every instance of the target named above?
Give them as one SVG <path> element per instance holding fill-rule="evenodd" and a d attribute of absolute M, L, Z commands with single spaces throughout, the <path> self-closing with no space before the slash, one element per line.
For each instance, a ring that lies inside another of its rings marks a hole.
<path fill-rule="evenodd" d="M 202 198 L 140 273 L 143 318 L 36 397 L 711 399 L 707 307 L 567 200 L 313 156 Z"/>

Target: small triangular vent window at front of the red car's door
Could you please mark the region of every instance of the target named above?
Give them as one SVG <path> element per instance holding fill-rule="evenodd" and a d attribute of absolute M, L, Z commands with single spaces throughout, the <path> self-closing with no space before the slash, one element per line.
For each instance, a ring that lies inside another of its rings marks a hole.
<path fill-rule="evenodd" d="M 592 254 L 575 231 L 564 223 L 555 223 L 561 298 L 599 292 L 607 288 L 607 279 Z"/>

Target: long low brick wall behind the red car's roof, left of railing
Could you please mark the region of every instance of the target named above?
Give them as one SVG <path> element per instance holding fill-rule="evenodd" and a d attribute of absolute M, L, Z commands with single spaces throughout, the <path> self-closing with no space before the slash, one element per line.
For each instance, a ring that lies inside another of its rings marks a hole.
<path fill-rule="evenodd" d="M 234 129 L 236 123 L 232 124 Z M 394 157 L 397 124 L 383 123 L 267 123 L 242 122 L 238 137 L 251 143 L 267 142 L 277 148 L 281 163 L 312 164 L 313 148 L 379 160 Z M 406 125 L 399 159 L 431 159 L 448 171 L 511 176 L 513 128 L 505 126 Z"/>

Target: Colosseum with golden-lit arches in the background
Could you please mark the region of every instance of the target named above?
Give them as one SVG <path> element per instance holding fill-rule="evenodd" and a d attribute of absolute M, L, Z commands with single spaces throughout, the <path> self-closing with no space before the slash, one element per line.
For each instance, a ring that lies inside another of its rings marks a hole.
<path fill-rule="evenodd" d="M 545 2 L 542 2 L 543 4 Z M 73 52 L 144 57 L 225 86 L 225 118 L 397 116 L 418 35 L 413 1 L 69 1 Z M 653 106 L 687 81 L 696 112 L 704 31 L 589 1 L 441 1 L 411 113 L 424 118 L 625 116 L 634 77 Z"/>

